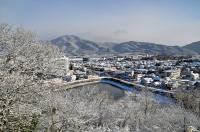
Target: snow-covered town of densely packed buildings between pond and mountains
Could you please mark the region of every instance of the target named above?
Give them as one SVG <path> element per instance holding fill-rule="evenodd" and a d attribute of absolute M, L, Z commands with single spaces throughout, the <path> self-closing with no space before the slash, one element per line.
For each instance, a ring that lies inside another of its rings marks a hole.
<path fill-rule="evenodd" d="M 71 57 L 62 61 L 67 82 L 95 77 L 114 77 L 165 90 L 191 90 L 200 86 L 199 56 L 131 55 Z M 61 69 L 61 68 L 60 68 Z"/>

